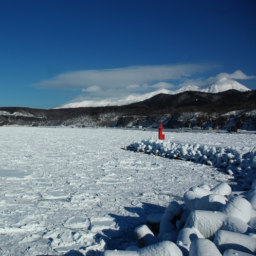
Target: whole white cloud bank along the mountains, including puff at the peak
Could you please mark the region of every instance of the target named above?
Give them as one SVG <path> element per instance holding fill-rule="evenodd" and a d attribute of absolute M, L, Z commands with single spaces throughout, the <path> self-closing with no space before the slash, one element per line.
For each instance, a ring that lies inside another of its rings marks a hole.
<path fill-rule="evenodd" d="M 217 66 L 205 63 L 177 63 L 172 65 L 80 70 L 65 72 L 32 86 L 42 89 L 78 90 L 83 96 L 105 98 L 120 97 L 131 93 L 146 93 L 156 88 L 176 90 L 181 86 L 203 86 L 214 79 L 256 78 L 256 76 L 245 75 L 241 70 L 236 70 L 233 74 L 220 73 L 216 77 L 207 79 L 198 78 L 198 76 L 215 67 Z"/>

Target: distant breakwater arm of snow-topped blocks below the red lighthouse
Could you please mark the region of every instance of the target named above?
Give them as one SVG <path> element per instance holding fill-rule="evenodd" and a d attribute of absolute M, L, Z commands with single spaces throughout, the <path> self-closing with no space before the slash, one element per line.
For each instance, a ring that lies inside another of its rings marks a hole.
<path fill-rule="evenodd" d="M 124 149 L 214 166 L 242 182 L 242 188 L 245 190 L 251 189 L 252 179 L 256 178 L 255 145 L 239 149 L 234 146 L 154 140 L 151 137 L 149 140 L 135 141 Z"/>

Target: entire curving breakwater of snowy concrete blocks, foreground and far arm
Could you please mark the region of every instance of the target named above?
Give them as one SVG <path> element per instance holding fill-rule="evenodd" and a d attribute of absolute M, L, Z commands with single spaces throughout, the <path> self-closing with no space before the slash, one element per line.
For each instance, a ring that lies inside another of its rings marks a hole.
<path fill-rule="evenodd" d="M 111 255 L 256 255 L 256 150 L 255 146 L 208 147 L 170 140 L 141 140 L 124 147 L 177 160 L 194 161 L 225 170 L 242 183 L 231 187 L 222 182 L 192 187 L 185 204 L 175 200 L 163 214 L 149 215 L 148 226 L 135 229 L 138 247 L 105 251 Z M 152 230 L 157 230 L 155 235 Z"/>

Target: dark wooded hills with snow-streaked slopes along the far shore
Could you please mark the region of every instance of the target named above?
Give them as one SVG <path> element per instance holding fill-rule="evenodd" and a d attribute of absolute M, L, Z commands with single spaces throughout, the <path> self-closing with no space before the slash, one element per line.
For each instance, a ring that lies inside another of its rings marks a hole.
<path fill-rule="evenodd" d="M 256 130 L 256 90 L 221 93 L 185 91 L 179 94 L 157 94 L 149 99 L 123 106 L 34 109 L 0 107 L 2 125 L 49 126 L 138 126 L 213 127 Z"/>

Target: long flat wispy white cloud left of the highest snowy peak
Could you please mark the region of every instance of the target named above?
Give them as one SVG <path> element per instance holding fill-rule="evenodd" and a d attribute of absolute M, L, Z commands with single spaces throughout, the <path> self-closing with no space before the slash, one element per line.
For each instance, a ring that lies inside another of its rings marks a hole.
<path fill-rule="evenodd" d="M 115 69 L 94 69 L 65 72 L 52 79 L 43 80 L 32 86 L 38 88 L 76 89 L 87 93 L 96 93 L 109 89 L 141 89 L 157 87 L 163 82 L 186 79 L 213 68 L 213 65 L 200 63 L 177 63 L 173 65 L 131 66 Z M 147 86 L 148 85 L 148 86 Z M 159 84 L 158 84 L 159 85 Z"/>

